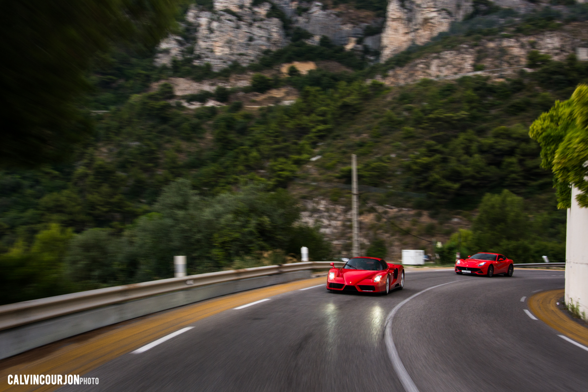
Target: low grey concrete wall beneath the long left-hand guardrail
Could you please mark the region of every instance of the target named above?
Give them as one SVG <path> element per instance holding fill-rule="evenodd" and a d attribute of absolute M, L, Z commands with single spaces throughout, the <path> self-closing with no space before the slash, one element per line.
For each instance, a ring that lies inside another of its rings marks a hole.
<path fill-rule="evenodd" d="M 173 307 L 226 294 L 271 286 L 272 284 L 308 279 L 309 277 L 310 270 L 304 270 L 235 280 L 103 306 L 3 330 L 0 331 L 0 359 L 65 339 L 66 337 L 145 316 L 145 314 L 172 309 Z"/>

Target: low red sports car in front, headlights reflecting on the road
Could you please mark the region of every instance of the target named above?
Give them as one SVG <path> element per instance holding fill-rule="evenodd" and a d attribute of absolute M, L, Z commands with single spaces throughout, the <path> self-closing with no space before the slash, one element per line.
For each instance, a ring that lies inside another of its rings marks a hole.
<path fill-rule="evenodd" d="M 332 292 L 365 292 L 387 294 L 404 287 L 404 268 L 377 257 L 352 257 L 342 268 L 332 269 L 327 276 L 327 290 Z"/>

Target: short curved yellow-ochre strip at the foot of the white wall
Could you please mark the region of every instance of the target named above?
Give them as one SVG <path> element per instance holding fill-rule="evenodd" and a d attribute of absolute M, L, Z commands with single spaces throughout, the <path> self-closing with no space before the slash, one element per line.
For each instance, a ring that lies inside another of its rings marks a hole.
<path fill-rule="evenodd" d="M 588 346 L 588 328 L 570 320 L 562 310 L 556 306 L 556 301 L 563 297 L 563 289 L 549 290 L 534 294 L 529 298 L 529 310 L 548 326 L 560 331 L 578 343 Z"/>

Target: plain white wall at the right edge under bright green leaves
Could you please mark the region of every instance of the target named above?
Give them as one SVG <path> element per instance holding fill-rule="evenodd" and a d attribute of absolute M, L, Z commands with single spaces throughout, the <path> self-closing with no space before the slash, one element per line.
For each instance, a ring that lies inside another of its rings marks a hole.
<path fill-rule="evenodd" d="M 579 304 L 588 318 L 588 208 L 576 202 L 579 190 L 572 189 L 572 208 L 567 210 L 566 303 Z"/>

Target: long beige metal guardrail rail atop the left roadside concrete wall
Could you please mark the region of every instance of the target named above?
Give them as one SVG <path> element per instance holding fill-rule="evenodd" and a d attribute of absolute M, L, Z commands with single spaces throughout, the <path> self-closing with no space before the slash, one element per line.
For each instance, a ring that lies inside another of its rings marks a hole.
<path fill-rule="evenodd" d="M 339 267 L 345 263 L 335 262 L 335 264 Z M 0 306 L 0 330 L 52 319 L 78 311 L 95 309 L 97 307 L 178 290 L 188 290 L 194 287 L 231 282 L 234 280 L 322 268 L 330 268 L 330 262 L 291 263 L 280 264 L 278 266 L 211 272 L 17 302 Z"/>

